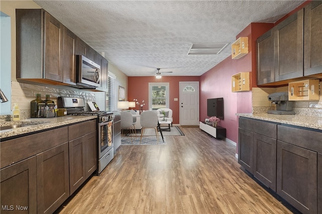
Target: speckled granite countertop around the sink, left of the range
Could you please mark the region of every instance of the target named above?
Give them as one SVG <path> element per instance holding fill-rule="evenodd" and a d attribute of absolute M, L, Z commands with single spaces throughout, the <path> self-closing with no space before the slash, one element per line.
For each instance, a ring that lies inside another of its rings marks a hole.
<path fill-rule="evenodd" d="M 67 115 L 62 117 L 52 117 L 52 118 L 30 118 L 21 121 L 8 121 L 8 122 L 1 122 L 1 126 L 7 125 L 20 125 L 20 124 L 28 124 L 28 126 L 23 126 L 19 128 L 12 128 L 0 131 L 0 138 L 6 137 L 13 137 L 16 135 L 31 133 L 34 131 L 45 130 L 48 128 L 54 128 L 58 126 L 68 125 L 76 122 L 82 122 L 86 120 L 95 119 L 97 116 L 74 116 L 74 115 Z M 30 124 L 30 125 L 29 125 Z"/>

